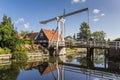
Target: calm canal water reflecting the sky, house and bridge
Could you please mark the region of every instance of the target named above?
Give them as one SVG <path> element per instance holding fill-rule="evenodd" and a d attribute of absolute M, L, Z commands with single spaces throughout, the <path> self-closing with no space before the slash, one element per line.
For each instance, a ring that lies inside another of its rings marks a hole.
<path fill-rule="evenodd" d="M 86 59 L 85 53 L 29 59 L 26 62 L 0 61 L 0 80 L 120 80 L 120 62 L 104 53 Z"/>

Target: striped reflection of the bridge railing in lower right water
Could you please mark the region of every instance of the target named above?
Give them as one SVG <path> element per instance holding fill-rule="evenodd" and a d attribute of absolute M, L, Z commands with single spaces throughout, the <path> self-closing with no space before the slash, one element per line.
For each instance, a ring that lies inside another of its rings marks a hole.
<path fill-rule="evenodd" d="M 92 76 L 93 77 L 97 77 L 97 78 L 101 78 L 101 79 L 105 79 L 105 80 L 119 80 L 120 79 L 120 75 L 118 74 L 112 74 L 109 72 L 104 72 L 102 71 L 102 69 L 88 69 L 88 68 L 81 68 L 81 66 L 75 67 L 75 66 L 71 66 L 69 64 L 61 64 L 61 65 L 65 65 L 64 66 L 64 71 L 68 71 L 69 73 L 73 72 L 73 73 L 80 73 L 80 74 L 85 74 L 86 75 L 86 80 L 89 80 Z M 69 77 L 70 78 L 70 77 Z"/>

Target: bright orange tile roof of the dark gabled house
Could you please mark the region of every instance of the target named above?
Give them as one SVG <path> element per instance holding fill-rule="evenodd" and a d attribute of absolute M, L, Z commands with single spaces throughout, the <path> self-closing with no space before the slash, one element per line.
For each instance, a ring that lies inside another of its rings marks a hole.
<path fill-rule="evenodd" d="M 47 38 L 49 39 L 49 40 L 51 40 L 52 39 L 52 37 L 53 37 L 53 41 L 57 41 L 57 39 L 58 39 L 58 32 L 56 32 L 55 34 L 54 34 L 54 30 L 48 30 L 48 29 L 42 29 L 43 30 L 43 32 L 45 33 L 45 35 L 47 36 Z"/>

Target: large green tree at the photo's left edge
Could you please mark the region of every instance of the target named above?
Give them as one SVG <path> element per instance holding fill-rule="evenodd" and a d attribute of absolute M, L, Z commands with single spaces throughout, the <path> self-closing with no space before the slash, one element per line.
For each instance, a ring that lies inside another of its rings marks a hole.
<path fill-rule="evenodd" d="M 0 47 L 7 47 L 13 51 L 19 42 L 17 31 L 14 29 L 11 18 L 3 16 L 3 21 L 0 23 Z"/>

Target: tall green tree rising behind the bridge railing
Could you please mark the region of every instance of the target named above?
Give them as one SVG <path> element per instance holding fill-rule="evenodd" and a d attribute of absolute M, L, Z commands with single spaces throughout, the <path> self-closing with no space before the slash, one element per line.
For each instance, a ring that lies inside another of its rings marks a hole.
<path fill-rule="evenodd" d="M 89 25 L 86 22 L 83 22 L 80 26 L 80 39 L 88 41 L 91 38 L 91 31 Z"/>

